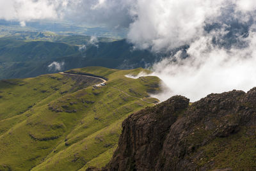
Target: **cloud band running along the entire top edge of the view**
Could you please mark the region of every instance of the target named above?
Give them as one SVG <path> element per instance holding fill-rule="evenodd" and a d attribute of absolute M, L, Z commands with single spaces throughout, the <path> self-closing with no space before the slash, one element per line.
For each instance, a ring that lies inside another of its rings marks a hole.
<path fill-rule="evenodd" d="M 205 20 L 232 5 L 243 13 L 256 6 L 253 0 L 0 0 L 0 19 L 63 19 L 126 27 L 129 40 L 157 50 L 188 43 L 202 31 Z"/>

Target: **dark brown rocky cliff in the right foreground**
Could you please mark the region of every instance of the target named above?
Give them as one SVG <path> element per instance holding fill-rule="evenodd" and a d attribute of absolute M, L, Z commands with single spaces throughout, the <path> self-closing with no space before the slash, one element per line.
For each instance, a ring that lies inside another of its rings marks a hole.
<path fill-rule="evenodd" d="M 173 96 L 122 126 L 102 170 L 256 170 L 256 88 L 210 94 L 192 105 Z"/>

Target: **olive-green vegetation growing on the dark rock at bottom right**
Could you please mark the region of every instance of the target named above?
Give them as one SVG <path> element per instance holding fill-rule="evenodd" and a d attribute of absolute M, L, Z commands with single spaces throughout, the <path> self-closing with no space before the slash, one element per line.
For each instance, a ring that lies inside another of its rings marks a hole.
<path fill-rule="evenodd" d="M 220 120 L 213 119 L 213 121 L 214 124 L 220 125 L 220 121 L 234 121 L 235 117 L 237 115 L 225 115 Z M 251 126 L 240 126 L 239 129 L 238 133 L 228 137 L 213 138 L 214 130 L 205 130 L 203 123 L 196 125 L 193 133 L 184 141 L 191 149 L 188 158 L 199 152 L 200 156 L 193 158 L 198 168 L 214 164 L 216 169 L 255 170 L 256 136 L 253 135 L 255 130 Z"/>

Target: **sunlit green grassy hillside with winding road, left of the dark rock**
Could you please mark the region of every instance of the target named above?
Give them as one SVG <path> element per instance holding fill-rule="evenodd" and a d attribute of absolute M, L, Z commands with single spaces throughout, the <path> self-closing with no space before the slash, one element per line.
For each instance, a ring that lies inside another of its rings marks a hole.
<path fill-rule="evenodd" d="M 60 73 L 0 82 L 0 170 L 85 170 L 101 167 L 116 148 L 122 121 L 152 106 L 159 78 L 127 78 L 136 70 L 88 67 L 108 79 Z M 149 98 L 148 101 L 152 101 Z"/>

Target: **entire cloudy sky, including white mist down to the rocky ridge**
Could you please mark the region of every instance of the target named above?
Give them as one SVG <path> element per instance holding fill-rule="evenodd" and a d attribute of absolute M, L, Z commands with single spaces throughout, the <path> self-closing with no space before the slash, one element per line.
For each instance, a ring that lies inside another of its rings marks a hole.
<path fill-rule="evenodd" d="M 255 0 L 0 0 L 0 19 L 70 20 L 128 29 L 136 48 L 189 48 L 152 66 L 165 92 L 199 100 L 256 85 Z M 184 52 L 186 59 L 184 59 Z"/>

